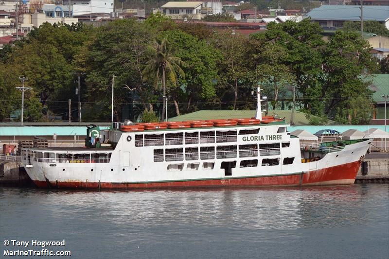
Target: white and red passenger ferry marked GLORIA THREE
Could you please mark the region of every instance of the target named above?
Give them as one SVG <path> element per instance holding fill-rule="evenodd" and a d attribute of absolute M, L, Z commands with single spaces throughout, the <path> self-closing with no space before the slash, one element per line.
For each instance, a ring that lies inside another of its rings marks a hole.
<path fill-rule="evenodd" d="M 38 187 L 152 189 L 353 184 L 370 139 L 301 146 L 287 123 L 252 119 L 138 123 L 98 133 L 110 147 L 22 150 Z M 88 128 L 91 137 L 98 128 Z M 104 136 L 102 136 L 104 135 Z"/>

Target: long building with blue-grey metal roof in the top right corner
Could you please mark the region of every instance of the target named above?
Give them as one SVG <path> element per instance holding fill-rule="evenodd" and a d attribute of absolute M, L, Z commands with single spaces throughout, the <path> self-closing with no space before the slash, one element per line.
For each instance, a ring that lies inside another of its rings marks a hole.
<path fill-rule="evenodd" d="M 325 29 L 339 29 L 346 21 L 360 21 L 361 10 L 354 5 L 322 5 L 307 14 Z M 369 6 L 363 9 L 363 19 L 378 21 L 389 29 L 389 5 Z"/>

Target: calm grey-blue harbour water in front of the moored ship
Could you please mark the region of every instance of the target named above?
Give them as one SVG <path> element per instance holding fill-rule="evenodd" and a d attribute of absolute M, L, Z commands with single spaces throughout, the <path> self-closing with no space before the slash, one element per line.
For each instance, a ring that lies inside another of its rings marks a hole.
<path fill-rule="evenodd" d="M 3 245 L 6 239 L 65 239 L 61 249 L 80 259 L 385 259 L 389 185 L 124 192 L 0 187 L 0 238 L 0 258 L 12 248 Z"/>

